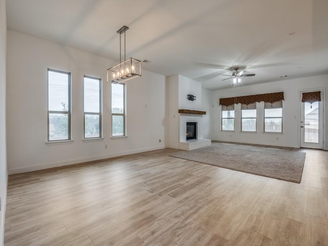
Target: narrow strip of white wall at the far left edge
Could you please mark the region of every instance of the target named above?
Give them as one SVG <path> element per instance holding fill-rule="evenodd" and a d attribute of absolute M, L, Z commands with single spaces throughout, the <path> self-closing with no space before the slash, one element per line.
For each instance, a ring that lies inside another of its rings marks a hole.
<path fill-rule="evenodd" d="M 8 177 L 6 157 L 6 53 L 6 1 L 0 0 L 0 245 L 3 245 L 4 242 L 4 223 Z"/>

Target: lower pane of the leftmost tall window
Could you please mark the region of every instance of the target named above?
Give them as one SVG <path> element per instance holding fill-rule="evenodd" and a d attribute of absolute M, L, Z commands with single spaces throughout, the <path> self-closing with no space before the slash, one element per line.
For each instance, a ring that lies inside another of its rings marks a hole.
<path fill-rule="evenodd" d="M 49 113 L 49 140 L 68 139 L 68 114 Z"/>

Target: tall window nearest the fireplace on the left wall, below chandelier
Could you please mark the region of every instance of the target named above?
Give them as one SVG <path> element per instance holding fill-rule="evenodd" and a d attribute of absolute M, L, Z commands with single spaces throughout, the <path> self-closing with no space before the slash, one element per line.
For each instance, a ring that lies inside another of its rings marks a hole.
<path fill-rule="evenodd" d="M 125 136 L 125 84 L 112 84 L 112 136 Z"/>

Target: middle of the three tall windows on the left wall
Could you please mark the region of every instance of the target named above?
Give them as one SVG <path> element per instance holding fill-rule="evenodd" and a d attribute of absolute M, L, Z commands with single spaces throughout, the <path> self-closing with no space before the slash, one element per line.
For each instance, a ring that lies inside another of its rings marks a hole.
<path fill-rule="evenodd" d="M 101 137 L 101 79 L 84 76 L 84 137 Z"/>

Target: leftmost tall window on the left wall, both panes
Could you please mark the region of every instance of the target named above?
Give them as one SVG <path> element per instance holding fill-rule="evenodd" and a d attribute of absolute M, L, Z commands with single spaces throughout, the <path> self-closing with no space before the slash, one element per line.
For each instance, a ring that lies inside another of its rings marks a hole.
<path fill-rule="evenodd" d="M 48 69 L 48 141 L 71 139 L 71 73 Z"/>

